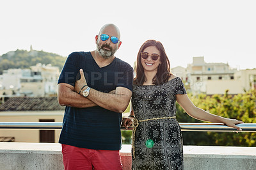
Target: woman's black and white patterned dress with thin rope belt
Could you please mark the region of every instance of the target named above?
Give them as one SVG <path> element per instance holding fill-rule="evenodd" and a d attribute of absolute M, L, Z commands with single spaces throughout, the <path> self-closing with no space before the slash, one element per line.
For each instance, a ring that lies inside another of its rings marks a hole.
<path fill-rule="evenodd" d="M 132 169 L 184 169 L 183 143 L 176 114 L 176 95 L 186 94 L 179 77 L 152 86 L 134 85 Z M 134 152 L 134 153 L 133 153 Z"/>

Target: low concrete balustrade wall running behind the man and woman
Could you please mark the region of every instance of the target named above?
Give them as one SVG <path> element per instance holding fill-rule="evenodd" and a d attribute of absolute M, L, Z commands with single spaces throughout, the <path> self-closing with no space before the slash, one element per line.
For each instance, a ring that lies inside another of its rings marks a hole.
<path fill-rule="evenodd" d="M 131 169 L 131 145 L 120 150 L 124 170 Z M 184 146 L 185 169 L 256 169 L 256 147 Z M 61 144 L 0 143 L 0 169 L 64 169 Z"/>

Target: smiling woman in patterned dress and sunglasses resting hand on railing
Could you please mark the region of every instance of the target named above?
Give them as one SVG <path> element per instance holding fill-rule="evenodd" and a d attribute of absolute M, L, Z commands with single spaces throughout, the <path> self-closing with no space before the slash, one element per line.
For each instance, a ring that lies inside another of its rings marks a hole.
<path fill-rule="evenodd" d="M 134 121 L 132 169 L 184 169 L 182 135 L 175 119 L 175 102 L 198 120 L 225 123 L 237 130 L 243 121 L 216 116 L 196 107 L 179 77 L 170 73 L 170 61 L 161 42 L 148 40 L 137 56 L 132 111 L 125 127 Z M 134 120 L 133 120 L 134 119 Z"/>

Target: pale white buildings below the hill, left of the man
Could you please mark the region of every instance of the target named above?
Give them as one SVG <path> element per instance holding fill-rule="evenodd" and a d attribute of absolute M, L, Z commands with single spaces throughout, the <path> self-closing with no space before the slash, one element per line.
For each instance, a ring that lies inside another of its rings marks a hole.
<path fill-rule="evenodd" d="M 0 95 L 47 97 L 56 95 L 58 66 L 37 64 L 31 69 L 8 69 L 0 76 Z"/>

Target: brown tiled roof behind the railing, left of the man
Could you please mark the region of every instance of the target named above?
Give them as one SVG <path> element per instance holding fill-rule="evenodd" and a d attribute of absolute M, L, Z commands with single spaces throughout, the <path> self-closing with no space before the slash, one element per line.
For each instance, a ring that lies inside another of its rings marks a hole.
<path fill-rule="evenodd" d="M 0 111 L 62 111 L 57 97 L 13 97 L 0 105 Z"/>

